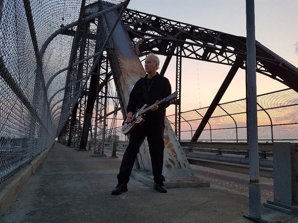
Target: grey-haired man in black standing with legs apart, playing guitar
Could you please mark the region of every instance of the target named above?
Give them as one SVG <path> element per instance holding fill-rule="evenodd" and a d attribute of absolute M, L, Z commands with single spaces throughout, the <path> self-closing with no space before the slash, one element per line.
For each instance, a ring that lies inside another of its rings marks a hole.
<path fill-rule="evenodd" d="M 133 114 L 144 104 L 151 105 L 150 112 L 145 117 L 144 124 L 137 126 L 130 134 L 130 142 L 123 155 L 118 178 L 118 185 L 112 191 L 112 195 L 119 195 L 127 191 L 127 183 L 132 172 L 137 153 L 147 137 L 151 165 L 154 179 L 154 189 L 161 193 L 167 190 L 163 184 L 163 132 L 165 108 L 169 102 L 160 105 L 154 103 L 171 94 L 169 80 L 157 73 L 159 59 L 154 54 L 149 54 L 145 60 L 145 71 L 147 75 L 139 79 L 132 92 L 127 106 L 127 121 L 131 122 Z"/>

